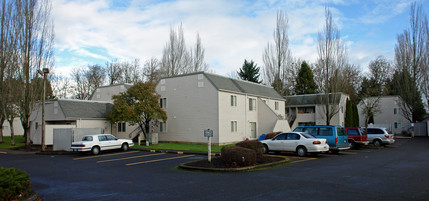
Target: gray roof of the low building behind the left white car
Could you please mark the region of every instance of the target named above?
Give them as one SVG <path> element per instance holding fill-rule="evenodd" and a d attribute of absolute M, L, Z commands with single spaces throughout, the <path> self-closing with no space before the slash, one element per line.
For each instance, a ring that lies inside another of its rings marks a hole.
<path fill-rule="evenodd" d="M 66 119 L 104 119 L 112 104 L 107 102 L 60 99 L 58 104 Z"/>

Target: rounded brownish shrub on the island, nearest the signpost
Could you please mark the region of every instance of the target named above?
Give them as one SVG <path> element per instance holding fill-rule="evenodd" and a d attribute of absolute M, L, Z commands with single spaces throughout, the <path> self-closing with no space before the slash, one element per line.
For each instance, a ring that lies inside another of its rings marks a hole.
<path fill-rule="evenodd" d="M 239 146 L 223 147 L 222 159 L 228 167 L 246 167 L 256 164 L 255 151 Z"/>

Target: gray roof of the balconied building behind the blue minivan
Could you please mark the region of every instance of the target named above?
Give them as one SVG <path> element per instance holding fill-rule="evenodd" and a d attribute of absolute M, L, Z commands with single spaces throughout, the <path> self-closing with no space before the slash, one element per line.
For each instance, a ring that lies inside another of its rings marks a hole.
<path fill-rule="evenodd" d="M 343 93 L 331 93 L 329 94 L 330 102 L 339 104 L 341 96 Z M 305 94 L 305 95 L 295 95 L 295 96 L 286 96 L 286 105 L 321 105 L 324 104 L 325 94 Z"/>

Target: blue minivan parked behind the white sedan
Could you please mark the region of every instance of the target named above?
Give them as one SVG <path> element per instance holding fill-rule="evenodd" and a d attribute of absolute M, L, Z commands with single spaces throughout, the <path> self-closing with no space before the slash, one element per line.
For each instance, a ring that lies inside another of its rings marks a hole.
<path fill-rule="evenodd" d="M 316 138 L 326 139 L 332 153 L 350 149 L 346 130 L 342 126 L 298 126 L 293 131 L 309 133 Z"/>

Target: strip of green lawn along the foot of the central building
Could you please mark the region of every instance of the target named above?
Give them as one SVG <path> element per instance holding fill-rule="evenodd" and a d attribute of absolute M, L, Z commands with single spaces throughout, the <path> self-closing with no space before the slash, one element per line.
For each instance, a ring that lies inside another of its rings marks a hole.
<path fill-rule="evenodd" d="M 225 145 L 229 146 L 229 145 Z M 218 145 L 212 145 L 212 152 L 220 153 L 222 147 Z M 138 146 L 134 145 L 133 148 L 145 148 L 145 149 L 165 149 L 165 150 L 177 150 L 177 151 L 201 151 L 207 152 L 208 146 L 206 144 L 183 144 L 183 143 L 159 143 L 156 145 L 146 146 L 144 144 Z"/>

